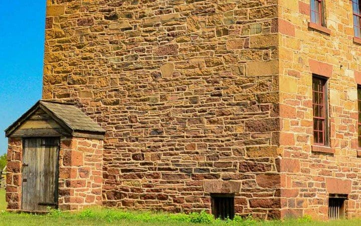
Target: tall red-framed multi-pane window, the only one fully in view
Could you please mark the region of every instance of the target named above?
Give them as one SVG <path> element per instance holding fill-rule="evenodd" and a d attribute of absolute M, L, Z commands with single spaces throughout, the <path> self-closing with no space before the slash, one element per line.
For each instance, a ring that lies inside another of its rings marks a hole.
<path fill-rule="evenodd" d="M 313 92 L 313 143 L 327 145 L 326 80 L 317 76 L 312 78 Z"/>

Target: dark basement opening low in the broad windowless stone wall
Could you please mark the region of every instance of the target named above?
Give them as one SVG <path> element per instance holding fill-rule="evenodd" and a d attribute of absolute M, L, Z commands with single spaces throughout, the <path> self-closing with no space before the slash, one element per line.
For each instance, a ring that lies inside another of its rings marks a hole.
<path fill-rule="evenodd" d="M 233 194 L 211 194 L 211 201 L 215 218 L 233 219 L 235 215 Z"/>

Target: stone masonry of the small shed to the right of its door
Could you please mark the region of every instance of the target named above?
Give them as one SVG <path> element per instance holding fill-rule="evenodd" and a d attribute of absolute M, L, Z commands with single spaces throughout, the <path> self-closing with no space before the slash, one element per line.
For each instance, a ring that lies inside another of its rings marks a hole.
<path fill-rule="evenodd" d="M 103 142 L 63 138 L 59 154 L 59 208 L 79 210 L 102 205 Z"/>

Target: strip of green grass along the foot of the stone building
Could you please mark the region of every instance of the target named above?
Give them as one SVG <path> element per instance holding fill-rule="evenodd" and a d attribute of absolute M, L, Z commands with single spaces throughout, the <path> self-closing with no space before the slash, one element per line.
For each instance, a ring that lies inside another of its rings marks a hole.
<path fill-rule="evenodd" d="M 340 220 L 329 222 L 309 221 L 307 218 L 286 221 L 255 221 L 253 219 L 233 221 L 213 220 L 208 214 L 166 214 L 151 212 L 124 212 L 114 209 L 87 209 L 77 213 L 65 213 L 57 210 L 47 215 L 16 214 L 6 209 L 5 191 L 0 191 L 0 226 L 3 225 L 124 225 L 124 226 L 353 226 L 361 225 L 361 220 Z M 192 222 L 208 223 L 192 223 Z"/>

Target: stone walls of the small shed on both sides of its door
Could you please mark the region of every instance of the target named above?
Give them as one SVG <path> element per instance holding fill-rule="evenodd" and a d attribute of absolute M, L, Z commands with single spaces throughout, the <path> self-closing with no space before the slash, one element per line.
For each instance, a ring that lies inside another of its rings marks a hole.
<path fill-rule="evenodd" d="M 22 140 L 9 138 L 7 194 L 9 210 L 22 202 Z M 103 142 L 97 139 L 62 138 L 59 151 L 58 204 L 62 210 L 102 205 Z"/>

